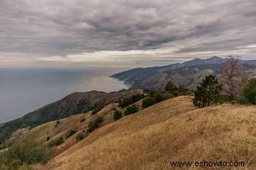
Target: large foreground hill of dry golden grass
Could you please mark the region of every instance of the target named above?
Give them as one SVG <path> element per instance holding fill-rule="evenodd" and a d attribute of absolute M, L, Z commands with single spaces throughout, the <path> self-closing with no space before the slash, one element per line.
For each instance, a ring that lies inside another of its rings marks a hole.
<path fill-rule="evenodd" d="M 255 106 L 197 109 L 176 97 L 99 128 L 44 168 L 172 169 L 170 161 L 203 160 L 255 169 Z"/>

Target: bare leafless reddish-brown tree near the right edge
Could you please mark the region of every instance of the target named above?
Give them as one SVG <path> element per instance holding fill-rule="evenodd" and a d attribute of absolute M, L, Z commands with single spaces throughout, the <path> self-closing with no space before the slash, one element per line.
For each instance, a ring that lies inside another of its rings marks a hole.
<path fill-rule="evenodd" d="M 222 93 L 229 96 L 230 100 L 241 96 L 242 85 L 247 80 L 245 73 L 239 65 L 239 55 L 228 55 L 221 63 L 220 82 L 223 85 Z"/>

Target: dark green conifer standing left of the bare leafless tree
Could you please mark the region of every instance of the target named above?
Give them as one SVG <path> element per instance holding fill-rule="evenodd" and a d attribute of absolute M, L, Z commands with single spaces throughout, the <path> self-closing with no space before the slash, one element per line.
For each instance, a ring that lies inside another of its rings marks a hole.
<path fill-rule="evenodd" d="M 203 82 L 195 91 L 194 106 L 205 107 L 217 103 L 221 87 L 222 85 L 218 83 L 218 79 L 215 79 L 215 76 L 206 76 L 206 79 L 203 79 Z"/>

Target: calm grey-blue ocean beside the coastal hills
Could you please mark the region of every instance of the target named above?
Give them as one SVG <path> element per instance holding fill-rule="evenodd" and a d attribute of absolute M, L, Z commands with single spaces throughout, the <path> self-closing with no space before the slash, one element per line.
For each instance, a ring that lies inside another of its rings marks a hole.
<path fill-rule="evenodd" d="M 20 118 L 73 92 L 111 92 L 129 88 L 109 77 L 122 70 L 0 68 L 0 124 Z"/>

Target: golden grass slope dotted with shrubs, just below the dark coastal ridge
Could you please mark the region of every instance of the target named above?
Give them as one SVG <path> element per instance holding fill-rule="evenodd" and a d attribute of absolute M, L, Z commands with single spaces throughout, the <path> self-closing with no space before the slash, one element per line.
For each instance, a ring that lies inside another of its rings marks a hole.
<path fill-rule="evenodd" d="M 20 137 L 35 139 L 36 142 L 44 145 L 47 145 L 51 141 L 62 137 L 63 139 L 65 139 L 65 142 L 62 145 L 53 148 L 53 154 L 54 156 L 56 156 L 75 145 L 78 142 L 76 139 L 78 133 L 86 134 L 88 124 L 97 116 L 102 115 L 104 117 L 105 121 L 103 122 L 102 126 L 104 124 L 109 124 L 113 122 L 114 108 L 116 108 L 117 105 L 117 103 L 109 104 L 96 115 L 90 115 L 90 112 L 87 112 L 85 114 L 81 113 L 79 115 L 72 115 L 69 118 L 59 120 L 59 124 L 57 124 L 57 126 L 56 121 L 51 121 L 46 124 L 42 124 L 41 126 L 35 127 L 26 133 L 23 133 Z M 83 118 L 84 121 L 81 122 Z M 66 139 L 66 136 L 68 136 L 72 130 L 75 130 L 76 133 Z M 50 136 L 50 140 L 48 142 L 47 136 Z"/>

